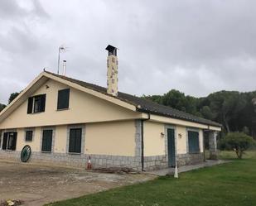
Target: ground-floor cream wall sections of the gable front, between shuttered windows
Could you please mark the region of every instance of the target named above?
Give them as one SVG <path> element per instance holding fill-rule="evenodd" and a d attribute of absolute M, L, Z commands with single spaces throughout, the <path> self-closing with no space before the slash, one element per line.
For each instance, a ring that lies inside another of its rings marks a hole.
<path fill-rule="evenodd" d="M 42 128 L 34 128 L 32 141 L 25 141 L 26 128 L 18 128 L 17 151 L 22 151 L 26 145 L 31 146 L 31 151 L 41 151 Z M 55 127 L 53 152 L 67 152 L 67 129 L 67 125 Z M 135 131 L 135 121 L 85 124 L 85 154 L 134 156 Z"/>

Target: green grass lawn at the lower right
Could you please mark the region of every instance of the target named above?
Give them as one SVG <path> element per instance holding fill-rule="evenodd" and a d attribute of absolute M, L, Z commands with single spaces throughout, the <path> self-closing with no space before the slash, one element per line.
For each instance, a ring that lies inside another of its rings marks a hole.
<path fill-rule="evenodd" d="M 222 158 L 234 159 L 230 152 Z M 142 184 L 110 189 L 77 199 L 48 204 L 54 206 L 254 206 L 256 205 L 256 152 L 243 160 L 182 173 L 178 180 L 161 177 Z"/>

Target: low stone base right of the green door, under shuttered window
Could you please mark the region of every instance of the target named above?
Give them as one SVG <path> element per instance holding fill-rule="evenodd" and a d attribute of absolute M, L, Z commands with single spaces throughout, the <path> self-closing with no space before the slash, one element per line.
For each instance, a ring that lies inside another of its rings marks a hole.
<path fill-rule="evenodd" d="M 176 156 L 178 166 L 182 165 L 194 165 L 204 161 L 204 153 L 186 153 L 186 154 L 178 154 Z"/>

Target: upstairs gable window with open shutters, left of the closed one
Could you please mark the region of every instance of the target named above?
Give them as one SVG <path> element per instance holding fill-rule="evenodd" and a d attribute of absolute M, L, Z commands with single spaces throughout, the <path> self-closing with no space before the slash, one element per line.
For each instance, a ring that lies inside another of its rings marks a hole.
<path fill-rule="evenodd" d="M 43 113 L 46 108 L 46 94 L 28 98 L 27 113 Z"/>

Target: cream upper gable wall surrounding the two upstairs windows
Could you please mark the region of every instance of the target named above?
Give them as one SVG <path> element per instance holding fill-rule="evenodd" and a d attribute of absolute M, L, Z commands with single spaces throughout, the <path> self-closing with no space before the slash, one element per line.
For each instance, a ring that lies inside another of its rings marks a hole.
<path fill-rule="evenodd" d="M 48 89 L 46 85 L 49 86 Z M 46 111 L 27 114 L 27 101 L 25 101 L 3 122 L 0 122 L 0 129 L 115 121 L 141 116 L 140 113 L 72 88 L 70 89 L 70 109 L 57 111 L 58 90 L 66 88 L 68 87 L 65 84 L 60 84 L 55 80 L 47 81 L 33 94 L 46 93 Z"/>

